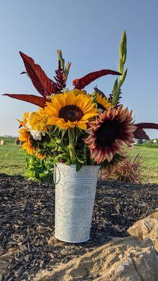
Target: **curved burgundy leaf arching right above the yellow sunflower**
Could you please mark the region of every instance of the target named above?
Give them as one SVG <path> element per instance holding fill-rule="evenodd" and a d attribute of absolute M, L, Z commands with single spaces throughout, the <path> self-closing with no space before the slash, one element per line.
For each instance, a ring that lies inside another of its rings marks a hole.
<path fill-rule="evenodd" d="M 92 81 L 107 75 L 107 74 L 112 74 L 112 75 L 121 75 L 121 73 L 113 71 L 113 70 L 99 70 L 96 72 L 91 72 L 86 74 L 84 77 L 81 77 L 80 79 L 75 79 L 74 80 L 74 86 L 76 89 L 84 89 L 85 86 L 87 86 L 88 84 L 90 84 Z"/>

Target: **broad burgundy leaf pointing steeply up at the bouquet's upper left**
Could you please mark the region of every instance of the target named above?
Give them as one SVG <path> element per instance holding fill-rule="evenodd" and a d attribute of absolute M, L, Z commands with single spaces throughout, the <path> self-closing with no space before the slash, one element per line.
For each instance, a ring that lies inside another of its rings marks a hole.
<path fill-rule="evenodd" d="M 32 80 L 32 84 L 37 91 L 41 93 L 41 96 L 50 96 L 51 93 L 55 93 L 58 86 L 46 76 L 46 73 L 41 69 L 40 65 L 36 65 L 34 60 L 25 55 L 25 53 L 20 52 L 20 55 L 25 64 L 27 74 Z"/>

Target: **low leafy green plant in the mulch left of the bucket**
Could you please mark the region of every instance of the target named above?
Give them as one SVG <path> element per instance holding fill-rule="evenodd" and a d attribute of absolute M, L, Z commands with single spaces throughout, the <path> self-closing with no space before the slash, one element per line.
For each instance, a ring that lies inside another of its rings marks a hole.
<path fill-rule="evenodd" d="M 26 155 L 25 177 L 32 181 L 53 183 L 53 165 L 51 158 L 39 160 L 36 156 Z"/>

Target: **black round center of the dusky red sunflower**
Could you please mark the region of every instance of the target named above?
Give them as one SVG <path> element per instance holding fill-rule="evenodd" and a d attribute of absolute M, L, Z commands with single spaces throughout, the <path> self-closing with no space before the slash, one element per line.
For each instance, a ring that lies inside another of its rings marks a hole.
<path fill-rule="evenodd" d="M 107 121 L 98 129 L 97 143 L 101 146 L 112 145 L 120 135 L 119 124 L 116 121 Z"/>

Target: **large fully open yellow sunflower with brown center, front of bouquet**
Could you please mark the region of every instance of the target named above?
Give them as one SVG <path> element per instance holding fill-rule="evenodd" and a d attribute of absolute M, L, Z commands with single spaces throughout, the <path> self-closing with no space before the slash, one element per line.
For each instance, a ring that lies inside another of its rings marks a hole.
<path fill-rule="evenodd" d="M 76 90 L 72 90 L 53 96 L 45 107 L 48 125 L 57 125 L 61 129 L 77 126 L 86 130 L 86 123 L 98 113 L 91 96 L 82 92 L 77 90 L 76 96 Z"/>

